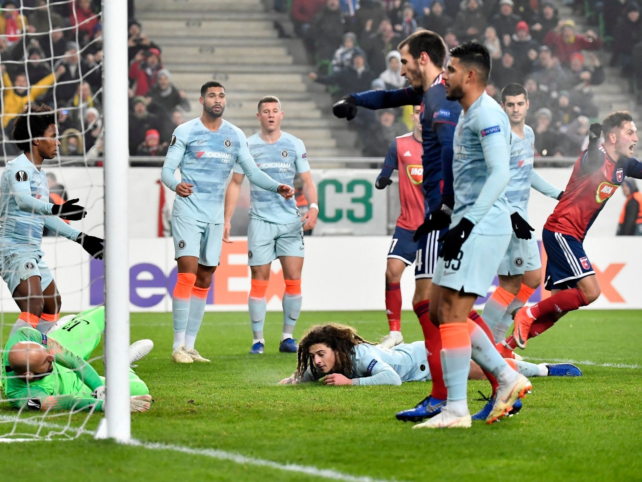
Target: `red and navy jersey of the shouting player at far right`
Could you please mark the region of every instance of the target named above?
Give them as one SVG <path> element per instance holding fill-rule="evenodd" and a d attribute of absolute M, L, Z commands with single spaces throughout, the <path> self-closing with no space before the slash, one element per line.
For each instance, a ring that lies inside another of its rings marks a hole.
<path fill-rule="evenodd" d="M 604 204 L 624 178 L 642 179 L 642 163 L 638 159 L 625 157 L 616 163 L 601 145 L 598 149 L 598 155 L 603 156 L 602 165 L 587 168 L 588 150 L 582 152 L 573 167 L 562 199 L 544 224 L 545 229 L 584 240 Z"/>

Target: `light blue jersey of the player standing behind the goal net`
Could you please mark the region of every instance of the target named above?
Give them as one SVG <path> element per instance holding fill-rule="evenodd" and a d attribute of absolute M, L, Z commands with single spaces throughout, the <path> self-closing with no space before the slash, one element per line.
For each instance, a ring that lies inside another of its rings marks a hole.
<path fill-rule="evenodd" d="M 47 175 L 24 154 L 6 163 L 0 177 L 0 251 L 3 256 L 12 251 L 40 251 L 45 217 L 38 208 L 21 210 L 16 200 L 20 195 L 32 196 L 40 201 L 34 204 L 42 213 L 49 211 L 51 214 Z"/>

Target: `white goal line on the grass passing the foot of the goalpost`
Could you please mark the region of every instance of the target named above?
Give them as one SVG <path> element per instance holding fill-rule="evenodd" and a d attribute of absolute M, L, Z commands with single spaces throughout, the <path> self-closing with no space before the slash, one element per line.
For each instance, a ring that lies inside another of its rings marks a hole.
<path fill-rule="evenodd" d="M 39 422 L 38 420 L 25 419 L 25 420 L 16 420 L 14 417 L 0 415 L 0 422 L 17 422 L 20 424 L 26 425 L 35 425 L 47 427 L 49 429 L 64 429 L 63 425 L 52 424 L 51 422 Z M 74 431 L 73 427 L 69 427 L 70 431 Z M 77 429 L 76 429 L 77 430 Z M 80 434 L 84 435 L 94 435 L 94 432 L 89 430 L 82 430 Z M 27 440 L 44 440 L 44 439 L 3 439 L 0 438 L 1 442 L 26 442 Z M 58 439 L 56 439 L 58 440 Z M 69 439 L 60 439 L 60 440 L 69 440 Z M 343 474 L 343 472 L 338 472 L 338 470 L 332 469 L 319 469 L 318 467 L 313 467 L 311 465 L 299 465 L 296 463 L 279 463 L 272 460 L 259 459 L 255 457 L 247 457 L 245 455 L 236 454 L 234 452 L 221 451 L 219 449 L 194 449 L 192 447 L 183 447 L 181 445 L 168 445 L 165 443 L 153 443 L 153 442 L 141 442 L 140 440 L 131 440 L 130 442 L 124 443 L 123 445 L 131 445 L 132 447 L 143 447 L 143 449 L 149 450 L 166 450 L 173 452 L 181 452 L 183 454 L 191 455 L 202 455 L 209 458 L 214 458 L 218 460 L 227 460 L 234 463 L 239 463 L 242 465 L 256 465 L 257 467 L 269 467 L 270 469 L 284 470 L 286 472 L 297 472 L 299 474 L 307 474 L 309 476 L 316 476 L 325 479 L 340 480 L 343 482 L 394 482 L 393 480 L 386 479 L 374 479 L 367 476 L 351 476 L 350 474 Z"/>

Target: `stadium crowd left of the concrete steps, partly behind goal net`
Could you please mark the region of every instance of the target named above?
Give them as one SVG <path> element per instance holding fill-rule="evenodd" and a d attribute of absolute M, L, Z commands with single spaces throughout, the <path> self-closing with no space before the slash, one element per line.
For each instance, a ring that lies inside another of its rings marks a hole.
<path fill-rule="evenodd" d="M 101 165 L 100 0 L 3 0 L 0 6 L 4 154 L 19 152 L 10 141 L 16 116 L 28 103 L 44 102 L 57 110 L 60 154 L 86 155 Z M 164 156 L 167 144 L 160 139 L 169 139 L 184 122 L 189 102 L 163 67 L 160 47 L 133 18 L 128 60 L 130 154 Z"/>

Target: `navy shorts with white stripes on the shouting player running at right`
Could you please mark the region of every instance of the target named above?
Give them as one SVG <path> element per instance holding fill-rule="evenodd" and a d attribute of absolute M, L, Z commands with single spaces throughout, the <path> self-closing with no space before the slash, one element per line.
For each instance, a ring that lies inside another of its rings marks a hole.
<path fill-rule="evenodd" d="M 547 290 L 575 288 L 577 281 L 595 274 L 577 238 L 544 229 L 542 243 L 548 256 L 544 278 Z"/>

